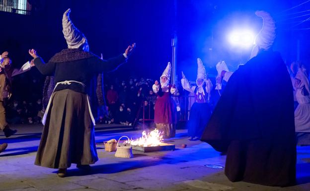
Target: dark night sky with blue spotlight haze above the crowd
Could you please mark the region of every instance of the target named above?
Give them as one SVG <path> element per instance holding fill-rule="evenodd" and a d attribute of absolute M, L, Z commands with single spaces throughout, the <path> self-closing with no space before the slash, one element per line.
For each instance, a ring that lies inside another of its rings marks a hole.
<path fill-rule="evenodd" d="M 90 50 L 110 58 L 123 53 L 128 44 L 137 43 L 129 62 L 112 75 L 128 78 L 158 78 L 171 61 L 171 37 L 178 36 L 177 74 L 184 70 L 195 78 L 196 58 L 200 57 L 207 71 L 215 74 L 214 66 L 226 60 L 231 69 L 246 62 L 250 49 L 235 51 L 224 36 L 233 25 L 248 25 L 258 32 L 262 20 L 255 16 L 258 9 L 269 11 L 277 21 L 275 50 L 284 60 L 297 58 L 297 39 L 301 42 L 301 60 L 309 60 L 309 22 L 293 27 L 308 17 L 294 14 L 310 8 L 310 3 L 287 10 L 304 0 L 53 0 L 38 1 L 37 12 L 31 16 L 5 14 L 7 30 L 1 29 L 0 51 L 9 50 L 16 63 L 30 59 L 29 48 L 36 48 L 48 61 L 66 48 L 61 19 L 67 8 L 72 9 L 74 24 L 88 39 Z M 176 17 L 175 7 L 176 3 Z M 306 12 L 307 13 L 307 12 Z M 3 16 L 1 15 L 1 18 Z M 294 24 L 295 23 L 295 24 Z M 212 48 L 212 51 L 210 51 Z"/>

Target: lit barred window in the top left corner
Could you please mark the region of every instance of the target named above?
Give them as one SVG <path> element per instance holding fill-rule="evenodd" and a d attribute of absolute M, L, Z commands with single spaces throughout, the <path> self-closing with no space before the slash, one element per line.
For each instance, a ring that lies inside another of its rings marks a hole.
<path fill-rule="evenodd" d="M 0 11 L 29 15 L 31 5 L 27 0 L 0 0 Z"/>

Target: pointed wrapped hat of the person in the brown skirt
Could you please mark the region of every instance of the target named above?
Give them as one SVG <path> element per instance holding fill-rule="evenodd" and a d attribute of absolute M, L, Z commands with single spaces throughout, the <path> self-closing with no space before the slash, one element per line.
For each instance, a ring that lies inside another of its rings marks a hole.
<path fill-rule="evenodd" d="M 78 28 L 76 28 L 69 17 L 71 9 L 69 8 L 63 15 L 63 33 L 67 41 L 69 49 L 81 48 L 84 51 L 89 51 L 87 39 Z"/>

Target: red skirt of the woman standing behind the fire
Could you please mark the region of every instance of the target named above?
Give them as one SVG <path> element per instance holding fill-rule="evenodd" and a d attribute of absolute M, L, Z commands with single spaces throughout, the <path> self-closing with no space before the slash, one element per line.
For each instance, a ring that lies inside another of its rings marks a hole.
<path fill-rule="evenodd" d="M 154 122 L 156 124 L 176 124 L 176 105 L 170 92 L 164 92 L 161 96 L 157 95 L 155 102 L 155 116 Z"/>

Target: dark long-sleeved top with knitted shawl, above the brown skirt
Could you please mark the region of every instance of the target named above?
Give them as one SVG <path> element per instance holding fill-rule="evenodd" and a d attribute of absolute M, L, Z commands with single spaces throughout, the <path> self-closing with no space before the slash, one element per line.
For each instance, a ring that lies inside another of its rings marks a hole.
<path fill-rule="evenodd" d="M 115 70 L 124 62 L 126 62 L 126 59 L 123 55 L 105 61 L 79 49 L 65 49 L 57 53 L 46 64 L 44 64 L 44 61 L 40 57 L 34 60 L 35 66 L 42 74 L 54 74 L 55 84 L 65 80 L 75 80 L 86 85 L 86 87 L 83 87 L 75 82 L 70 85 L 59 84 L 55 91 L 71 89 L 80 93 L 91 93 L 89 92 L 91 79 L 96 74 Z"/>

